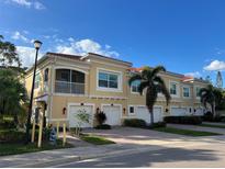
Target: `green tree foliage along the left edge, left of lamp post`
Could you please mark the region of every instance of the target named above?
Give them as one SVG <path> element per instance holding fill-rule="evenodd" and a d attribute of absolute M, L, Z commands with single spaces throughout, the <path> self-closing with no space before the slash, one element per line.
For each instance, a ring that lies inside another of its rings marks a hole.
<path fill-rule="evenodd" d="M 18 124 L 18 116 L 24 114 L 24 105 L 27 94 L 24 84 L 20 81 L 24 69 L 16 54 L 16 48 L 10 42 L 4 42 L 0 35 L 0 116 L 9 114 L 14 116 Z"/>

